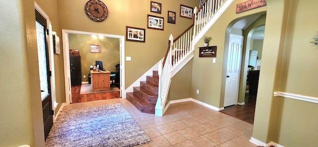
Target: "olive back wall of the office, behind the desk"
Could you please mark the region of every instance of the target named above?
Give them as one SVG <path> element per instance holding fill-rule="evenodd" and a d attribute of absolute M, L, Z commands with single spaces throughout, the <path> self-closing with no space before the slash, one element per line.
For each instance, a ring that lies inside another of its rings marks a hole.
<path fill-rule="evenodd" d="M 90 45 L 100 45 L 100 53 L 90 53 Z M 119 39 L 115 38 L 93 38 L 90 35 L 69 34 L 69 47 L 79 49 L 81 81 L 88 81 L 90 66 L 96 60 L 103 61 L 103 68 L 110 72 L 116 71 L 116 64 L 119 64 Z M 83 77 L 85 75 L 85 78 Z"/>

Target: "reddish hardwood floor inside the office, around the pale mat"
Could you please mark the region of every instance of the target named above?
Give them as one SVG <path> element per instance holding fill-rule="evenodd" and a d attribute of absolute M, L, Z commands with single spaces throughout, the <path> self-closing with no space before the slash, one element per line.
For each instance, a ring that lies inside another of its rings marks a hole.
<path fill-rule="evenodd" d="M 113 85 L 114 86 L 114 85 Z M 81 103 L 94 100 L 120 98 L 120 91 L 79 94 L 80 85 L 72 86 L 72 103 Z"/>

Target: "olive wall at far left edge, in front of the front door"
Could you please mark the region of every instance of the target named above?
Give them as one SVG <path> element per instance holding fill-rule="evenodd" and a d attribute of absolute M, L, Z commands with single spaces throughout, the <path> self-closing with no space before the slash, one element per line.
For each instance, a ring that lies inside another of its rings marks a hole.
<path fill-rule="evenodd" d="M 0 146 L 44 146 L 33 0 L 2 1 Z"/>

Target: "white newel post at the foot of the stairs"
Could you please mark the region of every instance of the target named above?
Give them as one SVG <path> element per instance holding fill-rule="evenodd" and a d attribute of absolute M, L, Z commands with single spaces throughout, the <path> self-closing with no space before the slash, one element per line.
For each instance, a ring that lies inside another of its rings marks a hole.
<path fill-rule="evenodd" d="M 156 107 L 155 107 L 155 115 L 157 116 L 162 116 L 163 114 L 163 106 L 162 106 L 162 103 L 161 103 L 161 91 L 163 90 L 161 88 L 161 84 L 162 84 L 162 79 L 161 79 L 161 75 L 162 75 L 162 62 L 160 61 L 159 62 L 159 65 L 158 65 L 158 75 L 159 75 L 159 84 L 158 84 L 158 99 L 157 99 L 157 103 L 156 103 Z"/>

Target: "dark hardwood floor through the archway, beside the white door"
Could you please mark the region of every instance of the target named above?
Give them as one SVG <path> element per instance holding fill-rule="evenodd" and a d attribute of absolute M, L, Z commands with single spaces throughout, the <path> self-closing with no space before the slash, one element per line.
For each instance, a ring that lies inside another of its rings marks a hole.
<path fill-rule="evenodd" d="M 245 95 L 245 105 L 233 105 L 225 107 L 220 111 L 244 122 L 254 124 L 256 96 Z"/>

